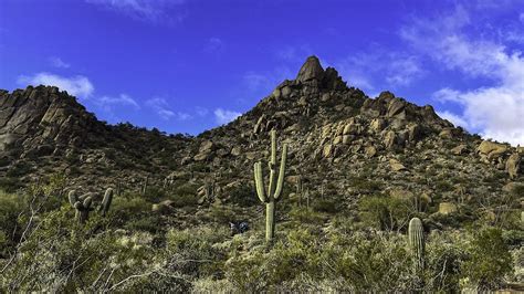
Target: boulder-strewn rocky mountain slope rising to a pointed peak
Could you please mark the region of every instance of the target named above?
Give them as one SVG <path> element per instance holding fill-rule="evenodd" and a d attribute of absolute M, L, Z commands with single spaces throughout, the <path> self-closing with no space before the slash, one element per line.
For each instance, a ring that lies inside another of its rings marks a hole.
<path fill-rule="evenodd" d="M 195 138 L 106 125 L 56 87 L 2 91 L 0 175 L 17 187 L 60 171 L 71 187 L 94 191 L 191 182 L 205 208 L 252 186 L 272 128 L 290 145 L 291 198 L 302 179 L 313 198 L 336 196 L 340 206 L 366 195 L 421 195 L 446 211 L 523 181 L 523 148 L 483 141 L 390 92 L 369 98 L 315 56 L 253 109 Z"/>

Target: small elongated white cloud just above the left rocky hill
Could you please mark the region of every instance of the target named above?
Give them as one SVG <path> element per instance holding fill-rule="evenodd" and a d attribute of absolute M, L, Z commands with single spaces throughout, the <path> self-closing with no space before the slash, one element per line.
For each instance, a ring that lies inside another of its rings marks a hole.
<path fill-rule="evenodd" d="M 28 84 L 35 86 L 57 86 L 60 90 L 65 90 L 69 94 L 80 98 L 88 98 L 94 92 L 93 84 L 87 77 L 83 75 L 65 77 L 42 72 L 34 75 L 21 75 L 18 77 L 17 82 L 23 86 L 27 86 Z"/>

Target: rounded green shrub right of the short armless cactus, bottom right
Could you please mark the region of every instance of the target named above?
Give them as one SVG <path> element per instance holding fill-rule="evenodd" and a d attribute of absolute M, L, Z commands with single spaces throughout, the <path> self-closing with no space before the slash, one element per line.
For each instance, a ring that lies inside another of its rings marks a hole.
<path fill-rule="evenodd" d="M 512 271 L 512 259 L 502 230 L 484 228 L 473 234 L 463 275 L 480 290 L 496 288 Z"/>

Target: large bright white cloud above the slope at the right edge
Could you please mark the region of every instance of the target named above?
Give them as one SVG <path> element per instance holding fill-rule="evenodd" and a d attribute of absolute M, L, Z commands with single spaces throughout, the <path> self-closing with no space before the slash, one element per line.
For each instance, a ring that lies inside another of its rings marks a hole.
<path fill-rule="evenodd" d="M 486 138 L 524 144 L 524 56 L 482 34 L 467 34 L 463 29 L 469 23 L 469 12 L 459 6 L 447 15 L 416 20 L 401 35 L 446 69 L 492 81 L 492 85 L 478 88 L 443 87 L 436 92 L 437 99 L 463 108 L 461 115 L 448 117 Z"/>

